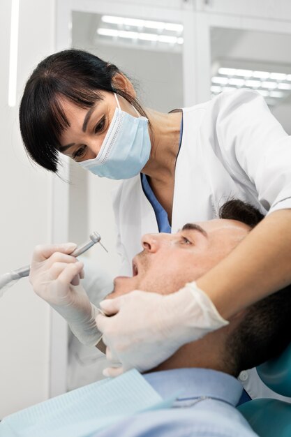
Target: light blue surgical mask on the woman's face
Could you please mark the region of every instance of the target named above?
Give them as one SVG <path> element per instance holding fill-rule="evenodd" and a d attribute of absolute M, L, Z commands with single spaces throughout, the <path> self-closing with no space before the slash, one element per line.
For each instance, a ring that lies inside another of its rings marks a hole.
<path fill-rule="evenodd" d="M 138 175 L 149 161 L 149 120 L 145 117 L 133 117 L 122 111 L 115 93 L 114 96 L 118 108 L 114 112 L 98 155 L 78 164 L 100 177 L 129 179 Z"/>

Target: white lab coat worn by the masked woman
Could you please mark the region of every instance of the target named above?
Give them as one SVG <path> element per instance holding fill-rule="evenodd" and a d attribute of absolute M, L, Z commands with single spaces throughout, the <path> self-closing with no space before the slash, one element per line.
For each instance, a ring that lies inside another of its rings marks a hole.
<path fill-rule="evenodd" d="M 225 91 L 211 101 L 183 109 L 177 157 L 172 232 L 185 223 L 218 217 L 226 200 L 251 203 L 263 214 L 291 208 L 291 137 L 255 91 Z M 114 194 L 117 249 L 122 273 L 142 250 L 140 238 L 158 232 L 154 210 L 140 175 Z"/>

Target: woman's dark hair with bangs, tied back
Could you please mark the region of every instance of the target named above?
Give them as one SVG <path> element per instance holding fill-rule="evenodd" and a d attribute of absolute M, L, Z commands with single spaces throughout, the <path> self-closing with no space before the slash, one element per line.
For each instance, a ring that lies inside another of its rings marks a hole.
<path fill-rule="evenodd" d="M 117 73 L 117 66 L 83 50 L 64 50 L 38 64 L 24 88 L 19 112 L 22 140 L 33 161 L 57 172 L 59 138 L 70 126 L 61 98 L 89 109 L 102 99 L 100 91 L 111 91 L 147 117 L 137 99 L 113 87 Z"/>

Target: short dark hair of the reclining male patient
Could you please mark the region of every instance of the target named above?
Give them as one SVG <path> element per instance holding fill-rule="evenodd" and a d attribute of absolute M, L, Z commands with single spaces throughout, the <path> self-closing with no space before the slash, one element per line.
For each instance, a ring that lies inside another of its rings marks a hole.
<path fill-rule="evenodd" d="M 230 200 L 221 218 L 238 220 L 254 228 L 264 216 L 252 205 Z M 224 357 L 234 376 L 279 355 L 291 342 L 291 285 L 246 309 L 243 320 L 227 337 Z"/>

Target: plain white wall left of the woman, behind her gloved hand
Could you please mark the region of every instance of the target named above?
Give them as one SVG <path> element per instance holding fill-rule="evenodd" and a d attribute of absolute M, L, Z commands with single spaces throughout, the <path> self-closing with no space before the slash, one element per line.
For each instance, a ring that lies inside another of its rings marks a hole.
<path fill-rule="evenodd" d="M 20 0 L 17 105 L 8 108 L 10 0 L 0 1 L 0 274 L 50 241 L 50 175 L 29 163 L 17 111 L 24 83 L 54 51 L 54 0 Z M 47 399 L 50 310 L 22 279 L 0 300 L 0 418 Z"/>

